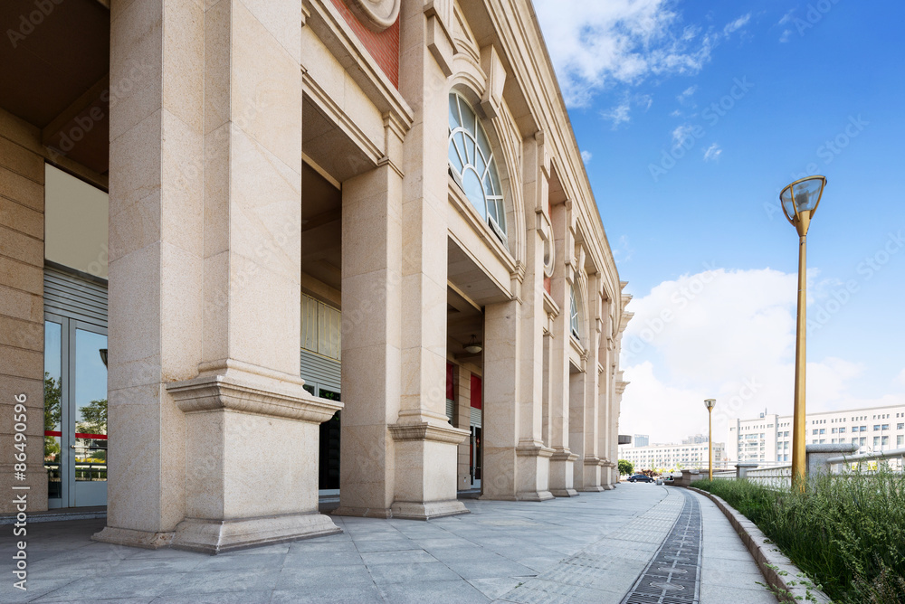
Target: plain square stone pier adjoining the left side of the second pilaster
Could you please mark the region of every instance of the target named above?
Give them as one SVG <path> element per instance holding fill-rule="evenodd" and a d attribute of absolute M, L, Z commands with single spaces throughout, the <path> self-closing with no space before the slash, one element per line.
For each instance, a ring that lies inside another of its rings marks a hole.
<path fill-rule="evenodd" d="M 382 165 L 342 187 L 342 412 L 339 508 L 388 517 L 399 415 L 402 179 Z"/>

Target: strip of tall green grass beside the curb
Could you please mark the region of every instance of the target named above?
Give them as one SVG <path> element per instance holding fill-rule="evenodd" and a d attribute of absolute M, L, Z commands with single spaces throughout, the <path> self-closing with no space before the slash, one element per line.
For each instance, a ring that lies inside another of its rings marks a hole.
<path fill-rule="evenodd" d="M 842 604 L 905 604 L 905 476 L 816 477 L 805 493 L 700 480 Z"/>

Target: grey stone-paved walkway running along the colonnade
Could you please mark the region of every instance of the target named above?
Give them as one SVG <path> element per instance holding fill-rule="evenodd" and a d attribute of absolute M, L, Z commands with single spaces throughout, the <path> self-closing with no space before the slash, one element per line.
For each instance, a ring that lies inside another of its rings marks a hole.
<path fill-rule="evenodd" d="M 102 520 L 30 524 L 29 590 L 12 588 L 5 535 L 0 601 L 776 602 L 725 516 L 678 487 L 465 505 L 429 522 L 338 517 L 341 534 L 218 556 L 90 542 Z"/>

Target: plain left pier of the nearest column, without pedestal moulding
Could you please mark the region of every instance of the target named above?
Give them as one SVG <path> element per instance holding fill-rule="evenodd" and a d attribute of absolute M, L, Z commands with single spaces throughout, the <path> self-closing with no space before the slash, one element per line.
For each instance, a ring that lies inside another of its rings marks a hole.
<path fill-rule="evenodd" d="M 164 44 L 164 30 L 168 31 Z M 170 543 L 186 515 L 186 418 L 166 382 L 201 362 L 204 7 L 110 6 L 107 527 Z M 164 94 L 164 90 L 167 94 Z"/>

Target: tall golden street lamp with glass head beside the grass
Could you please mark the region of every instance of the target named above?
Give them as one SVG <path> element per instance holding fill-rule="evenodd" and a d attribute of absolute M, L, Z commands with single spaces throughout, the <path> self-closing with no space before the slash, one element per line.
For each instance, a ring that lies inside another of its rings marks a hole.
<path fill-rule="evenodd" d="M 805 487 L 805 303 L 807 275 L 805 252 L 807 228 L 820 204 L 826 178 L 808 176 L 789 184 L 779 193 L 786 218 L 798 231 L 798 322 L 795 327 L 795 420 L 792 425 L 792 484 Z"/>

